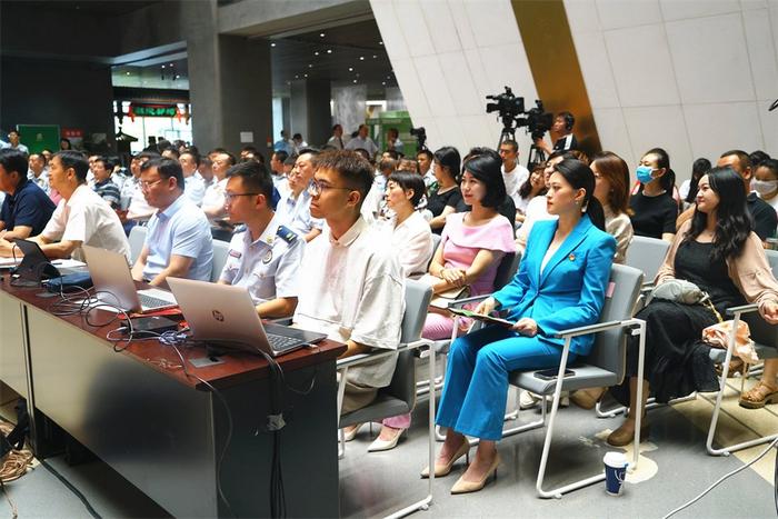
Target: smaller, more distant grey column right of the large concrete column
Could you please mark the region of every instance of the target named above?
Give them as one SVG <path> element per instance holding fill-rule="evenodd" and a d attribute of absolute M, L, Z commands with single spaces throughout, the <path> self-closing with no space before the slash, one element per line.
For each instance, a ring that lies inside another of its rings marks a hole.
<path fill-rule="evenodd" d="M 298 79 L 291 82 L 289 136 L 301 133 L 311 146 L 327 142 L 332 130 L 330 82 Z"/>

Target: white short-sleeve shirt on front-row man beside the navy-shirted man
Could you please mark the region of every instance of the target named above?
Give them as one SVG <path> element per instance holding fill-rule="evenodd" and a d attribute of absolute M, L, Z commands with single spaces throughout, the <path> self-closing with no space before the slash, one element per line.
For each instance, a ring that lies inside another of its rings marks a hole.
<path fill-rule="evenodd" d="M 60 200 L 41 236 L 52 241 L 80 241 L 124 254 L 128 261 L 130 259 L 130 243 L 119 217 L 87 184 L 76 188 L 70 199 Z M 76 249 L 73 258 L 83 261 L 81 249 Z"/>

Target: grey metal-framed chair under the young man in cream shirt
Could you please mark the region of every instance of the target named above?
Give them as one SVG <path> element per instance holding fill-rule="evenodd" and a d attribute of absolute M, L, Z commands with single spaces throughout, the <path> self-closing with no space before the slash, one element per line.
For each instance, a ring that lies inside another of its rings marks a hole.
<path fill-rule="evenodd" d="M 338 427 L 340 428 L 340 448 L 338 458 L 342 458 L 346 443 L 343 438 L 343 427 L 355 423 L 378 421 L 385 418 L 396 417 L 411 412 L 416 406 L 416 360 L 415 351 L 421 347 L 429 347 L 430 341 L 421 338 L 421 329 L 425 326 L 427 307 L 432 299 L 432 289 L 423 282 L 406 279 L 405 301 L 406 309 L 402 315 L 400 333 L 400 347 L 398 348 L 398 360 L 392 380 L 386 388 L 378 391 L 378 397 L 369 406 L 341 416 L 340 409 L 343 402 L 346 390 L 346 375 L 349 368 L 359 366 L 366 361 L 372 361 L 381 356 L 395 355 L 395 351 L 375 351 L 366 355 L 358 355 L 338 360 L 337 368 L 340 373 L 338 385 Z M 430 380 L 435 376 L 436 352 L 433 348 L 427 348 L 429 358 Z M 428 422 L 428 463 L 435 467 L 435 391 L 429 396 L 429 422 Z M 432 471 L 435 472 L 435 471 Z M 418 475 L 412 476 L 415 479 Z M 432 502 L 432 483 L 435 473 L 430 473 L 428 480 L 427 496 L 420 501 L 413 502 L 401 510 L 388 516 L 391 518 L 405 517 L 416 510 L 426 510 Z"/>

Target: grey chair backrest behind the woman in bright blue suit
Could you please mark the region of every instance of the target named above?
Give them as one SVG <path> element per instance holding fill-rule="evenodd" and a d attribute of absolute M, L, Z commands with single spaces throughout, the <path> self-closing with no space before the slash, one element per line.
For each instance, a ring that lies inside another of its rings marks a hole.
<path fill-rule="evenodd" d="M 644 279 L 644 273 L 634 267 L 614 265 L 606 292 L 610 296 L 606 296 L 599 322 L 630 319 Z M 616 328 L 595 336 L 595 345 L 586 362 L 611 371 L 621 380 L 626 371 L 626 356 L 627 333 L 624 328 Z"/>

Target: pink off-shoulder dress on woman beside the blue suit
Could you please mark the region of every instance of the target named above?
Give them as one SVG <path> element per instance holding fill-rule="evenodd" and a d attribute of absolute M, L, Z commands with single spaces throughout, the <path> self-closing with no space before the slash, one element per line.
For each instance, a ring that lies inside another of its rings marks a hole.
<path fill-rule="evenodd" d="M 495 291 L 495 277 L 500 260 L 506 253 L 516 252 L 513 227 L 505 217 L 496 217 L 489 222 L 470 227 L 465 224 L 467 212 L 455 212 L 446 217 L 446 227 L 440 236 L 443 246 L 446 268 L 467 270 L 481 249 L 498 252 L 498 260 L 487 268 L 470 285 L 470 296 L 481 296 Z M 426 339 L 448 339 L 453 329 L 453 319 L 439 313 L 428 313 L 421 336 Z"/>

